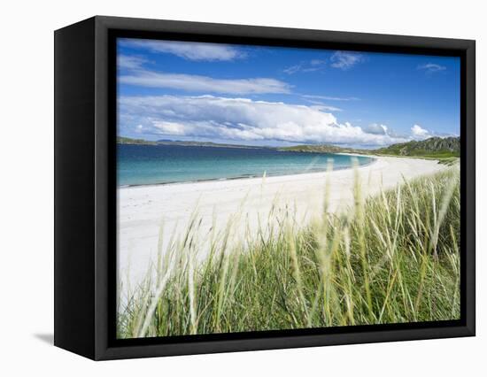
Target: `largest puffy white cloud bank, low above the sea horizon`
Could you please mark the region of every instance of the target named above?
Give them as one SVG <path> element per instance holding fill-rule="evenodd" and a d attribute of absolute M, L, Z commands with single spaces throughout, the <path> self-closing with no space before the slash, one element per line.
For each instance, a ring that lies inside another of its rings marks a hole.
<path fill-rule="evenodd" d="M 367 133 L 313 106 L 217 96 L 124 96 L 120 130 L 240 142 L 321 142 L 384 146 L 407 138 Z"/>

